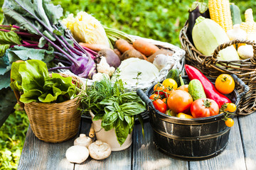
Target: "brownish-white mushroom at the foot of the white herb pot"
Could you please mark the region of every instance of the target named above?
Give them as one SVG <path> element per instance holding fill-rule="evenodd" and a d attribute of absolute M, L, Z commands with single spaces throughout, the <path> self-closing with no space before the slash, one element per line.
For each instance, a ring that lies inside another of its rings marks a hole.
<path fill-rule="evenodd" d="M 90 157 L 93 159 L 105 159 L 107 157 L 110 157 L 111 154 L 111 148 L 110 145 L 108 145 L 105 142 L 102 142 L 101 140 L 96 140 L 88 147 Z"/>

